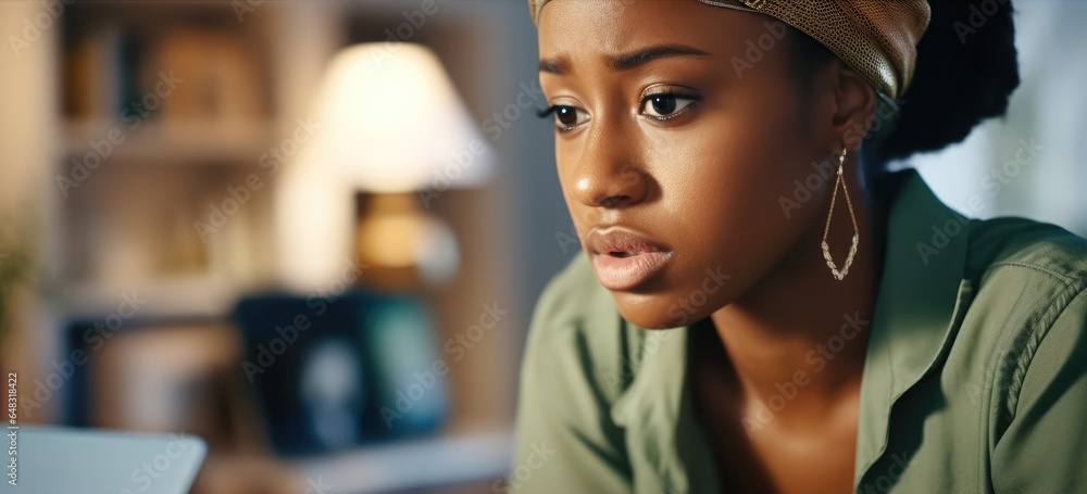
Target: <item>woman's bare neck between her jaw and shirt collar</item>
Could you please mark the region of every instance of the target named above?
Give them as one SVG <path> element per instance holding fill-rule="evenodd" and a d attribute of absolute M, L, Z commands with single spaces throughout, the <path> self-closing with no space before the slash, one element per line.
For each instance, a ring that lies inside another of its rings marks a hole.
<path fill-rule="evenodd" d="M 864 368 L 883 264 L 884 220 L 880 208 L 866 201 L 858 167 L 846 169 L 854 170 L 845 177 L 860 231 L 845 279 L 832 276 L 820 249 L 825 220 L 813 221 L 811 231 L 785 257 L 787 262 L 710 316 L 746 408 L 769 408 L 785 425 L 820 423 L 837 406 L 855 404 L 844 398 L 859 390 Z M 824 219 L 833 186 L 829 182 L 820 210 Z M 839 270 L 852 236 L 849 208 L 839 190 L 827 236 Z"/>

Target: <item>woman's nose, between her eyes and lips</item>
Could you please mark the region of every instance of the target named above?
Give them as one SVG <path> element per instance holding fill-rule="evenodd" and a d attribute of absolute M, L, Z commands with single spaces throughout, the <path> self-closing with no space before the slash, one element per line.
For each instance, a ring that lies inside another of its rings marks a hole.
<path fill-rule="evenodd" d="M 628 207 L 646 200 L 649 177 L 635 159 L 632 141 L 603 132 L 589 136 L 574 170 L 573 195 L 591 207 Z"/>

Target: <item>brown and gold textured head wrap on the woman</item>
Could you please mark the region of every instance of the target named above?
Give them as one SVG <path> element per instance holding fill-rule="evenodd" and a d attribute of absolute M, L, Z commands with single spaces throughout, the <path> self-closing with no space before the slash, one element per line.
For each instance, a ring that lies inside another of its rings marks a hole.
<path fill-rule="evenodd" d="M 540 10 L 549 1 L 528 0 L 529 13 L 537 26 Z M 823 43 L 880 96 L 890 100 L 901 98 L 910 86 L 917 60 L 917 41 L 932 17 L 928 0 L 698 1 L 758 12 L 799 29 Z M 890 103 L 894 105 L 894 101 Z"/>

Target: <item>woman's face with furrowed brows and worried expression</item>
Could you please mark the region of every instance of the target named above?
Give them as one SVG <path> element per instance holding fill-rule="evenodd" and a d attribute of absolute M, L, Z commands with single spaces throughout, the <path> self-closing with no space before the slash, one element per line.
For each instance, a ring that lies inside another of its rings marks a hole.
<path fill-rule="evenodd" d="M 633 324 L 684 326 L 790 269 L 795 251 L 822 261 L 834 177 L 788 214 L 780 200 L 840 140 L 820 124 L 834 113 L 821 83 L 801 89 L 785 34 L 771 17 L 696 1 L 542 10 L 563 197 Z"/>

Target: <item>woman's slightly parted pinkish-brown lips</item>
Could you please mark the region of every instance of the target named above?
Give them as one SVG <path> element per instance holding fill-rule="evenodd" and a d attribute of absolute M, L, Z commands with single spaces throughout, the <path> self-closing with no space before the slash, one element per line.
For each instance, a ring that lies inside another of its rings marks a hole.
<path fill-rule="evenodd" d="M 635 231 L 592 229 L 586 238 L 592 270 L 608 290 L 627 291 L 645 283 L 672 257 L 672 251 Z"/>

